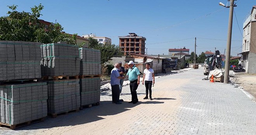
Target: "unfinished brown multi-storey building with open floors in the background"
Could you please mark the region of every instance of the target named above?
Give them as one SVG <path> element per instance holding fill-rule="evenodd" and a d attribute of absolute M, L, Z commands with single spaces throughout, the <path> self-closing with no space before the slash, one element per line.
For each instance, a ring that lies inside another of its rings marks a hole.
<path fill-rule="evenodd" d="M 145 54 L 145 37 L 138 36 L 135 33 L 129 33 L 127 36 L 119 37 L 119 47 L 126 56 L 128 53 Z"/>

